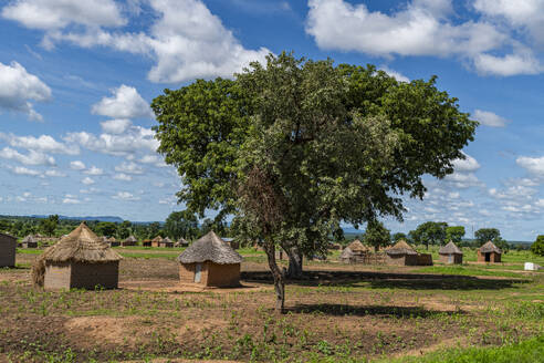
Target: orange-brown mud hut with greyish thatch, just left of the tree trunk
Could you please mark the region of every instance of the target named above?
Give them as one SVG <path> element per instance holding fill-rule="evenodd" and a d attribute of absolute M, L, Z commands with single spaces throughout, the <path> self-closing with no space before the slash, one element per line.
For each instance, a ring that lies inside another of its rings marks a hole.
<path fill-rule="evenodd" d="M 213 231 L 189 246 L 178 261 L 182 283 L 220 288 L 240 284 L 242 257 Z"/>

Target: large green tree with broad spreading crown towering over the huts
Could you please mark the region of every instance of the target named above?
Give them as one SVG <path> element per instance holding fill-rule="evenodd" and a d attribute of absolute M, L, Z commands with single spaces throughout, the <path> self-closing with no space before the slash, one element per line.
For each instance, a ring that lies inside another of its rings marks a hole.
<path fill-rule="evenodd" d="M 278 308 L 275 249 L 326 253 L 342 221 L 401 219 L 401 195 L 422 198 L 477 126 L 435 79 L 398 83 L 374 66 L 292 54 L 251 63 L 233 81 L 196 81 L 153 101 L 158 151 L 184 180 L 192 212 L 232 215 L 240 239 L 264 248 Z"/>

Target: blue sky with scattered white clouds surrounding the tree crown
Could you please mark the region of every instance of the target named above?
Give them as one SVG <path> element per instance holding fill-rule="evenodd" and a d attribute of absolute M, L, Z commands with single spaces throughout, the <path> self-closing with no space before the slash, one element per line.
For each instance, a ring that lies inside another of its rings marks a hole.
<path fill-rule="evenodd" d="M 182 209 L 148 104 L 268 52 L 373 63 L 438 86 L 481 122 L 444 180 L 407 200 L 427 220 L 544 234 L 543 0 L 0 1 L 0 214 L 164 220 Z"/>

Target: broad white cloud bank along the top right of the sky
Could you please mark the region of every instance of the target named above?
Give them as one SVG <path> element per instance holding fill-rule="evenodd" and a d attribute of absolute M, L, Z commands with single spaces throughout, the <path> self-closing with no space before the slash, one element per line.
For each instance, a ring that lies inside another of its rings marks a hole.
<path fill-rule="evenodd" d="M 532 46 L 520 37 L 529 29 L 544 43 L 542 1 L 477 0 L 468 10 L 477 12 L 478 20 L 464 22 L 456 17 L 451 0 L 411 0 L 389 14 L 345 0 L 310 0 L 308 7 L 306 32 L 321 49 L 388 59 L 450 56 L 485 75 L 543 71 Z"/>

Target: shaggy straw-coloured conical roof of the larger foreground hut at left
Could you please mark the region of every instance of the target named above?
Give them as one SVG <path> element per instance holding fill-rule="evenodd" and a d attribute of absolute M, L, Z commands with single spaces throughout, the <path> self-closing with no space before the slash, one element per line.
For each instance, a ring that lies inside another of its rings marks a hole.
<path fill-rule="evenodd" d="M 41 259 L 53 262 L 101 263 L 118 261 L 122 257 L 82 222 L 70 235 L 48 248 Z"/>

